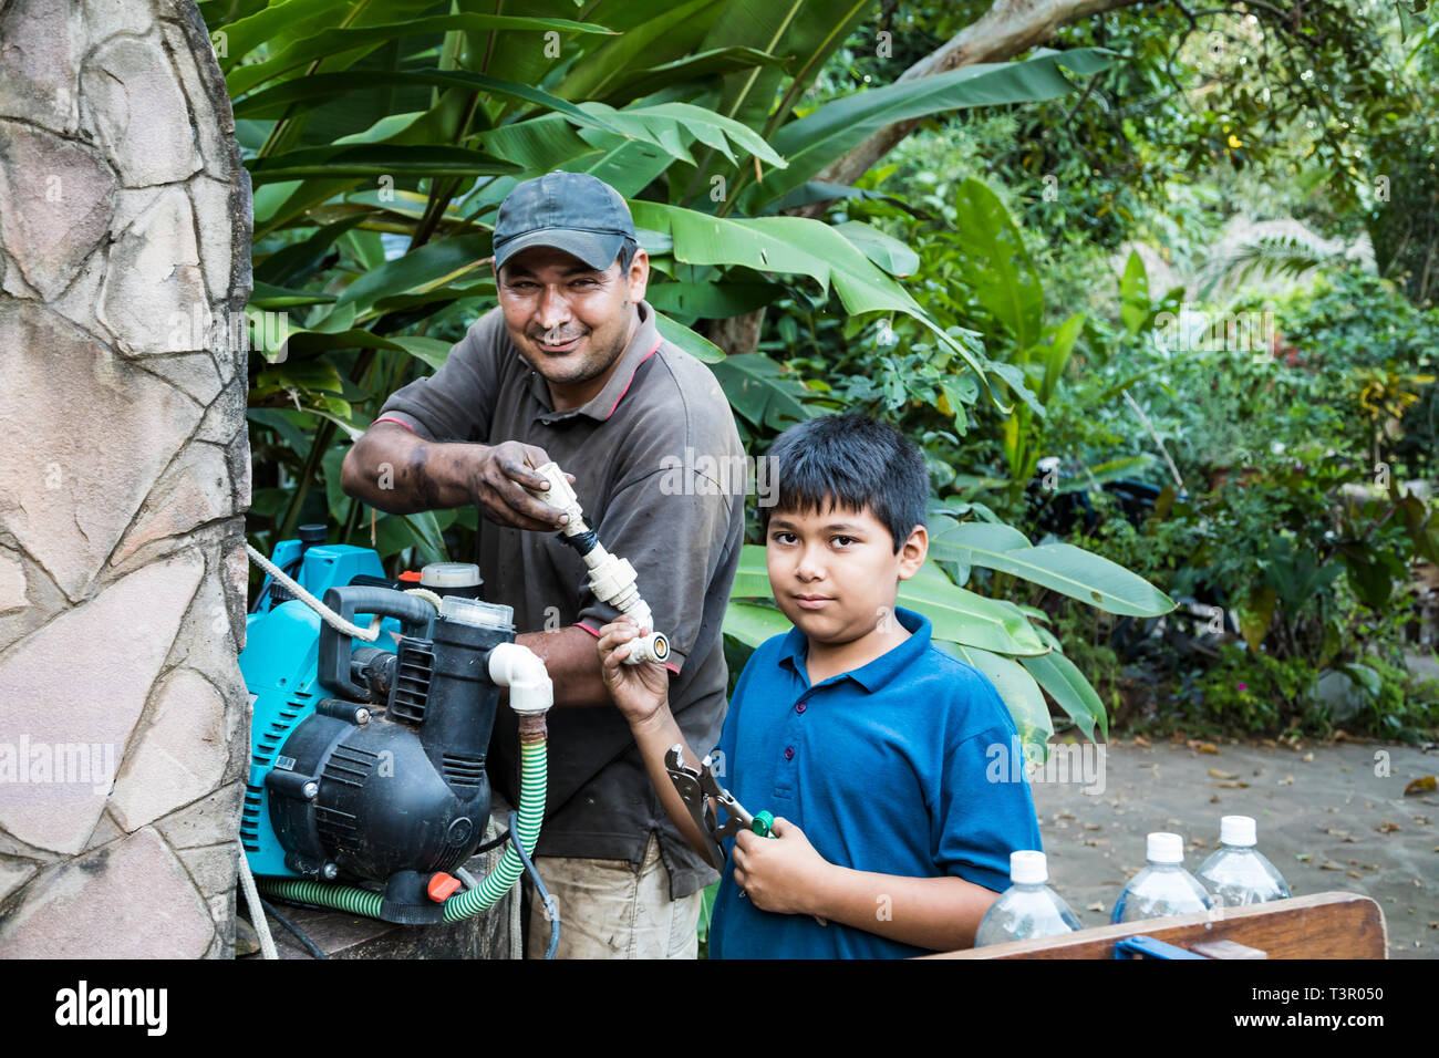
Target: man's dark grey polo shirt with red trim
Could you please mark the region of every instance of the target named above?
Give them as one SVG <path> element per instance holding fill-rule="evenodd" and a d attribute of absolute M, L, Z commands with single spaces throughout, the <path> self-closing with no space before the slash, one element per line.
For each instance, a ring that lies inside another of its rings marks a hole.
<path fill-rule="evenodd" d="M 604 389 L 581 407 L 554 410 L 544 377 L 519 356 L 495 308 L 433 377 L 397 390 L 376 422 L 397 422 L 427 440 L 537 445 L 573 474 L 600 543 L 635 566 L 655 625 L 669 636 L 671 710 L 695 751 L 707 753 L 724 721 L 721 623 L 744 543 L 744 485 L 724 468 L 741 466 L 744 451 L 714 374 L 661 340 L 648 302 L 639 309 L 635 338 Z M 485 600 L 512 606 L 521 632 L 577 623 L 597 636 L 619 615 L 589 590 L 584 561 L 557 533 L 481 517 L 476 561 Z M 658 831 L 673 898 L 715 880 L 661 808 L 612 702 L 551 710 L 548 727 L 538 855 L 639 864 Z M 515 720 L 501 710 L 491 770 L 511 800 L 517 760 Z"/>

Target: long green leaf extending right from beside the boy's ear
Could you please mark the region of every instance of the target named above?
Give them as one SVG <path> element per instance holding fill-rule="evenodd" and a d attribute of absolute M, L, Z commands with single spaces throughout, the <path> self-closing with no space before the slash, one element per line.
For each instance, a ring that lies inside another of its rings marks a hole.
<path fill-rule="evenodd" d="M 1072 544 L 1000 547 L 996 528 L 981 523 L 935 524 L 930 550 L 940 559 L 1012 573 L 1108 613 L 1156 618 L 1174 609 L 1167 594 L 1108 559 Z"/>

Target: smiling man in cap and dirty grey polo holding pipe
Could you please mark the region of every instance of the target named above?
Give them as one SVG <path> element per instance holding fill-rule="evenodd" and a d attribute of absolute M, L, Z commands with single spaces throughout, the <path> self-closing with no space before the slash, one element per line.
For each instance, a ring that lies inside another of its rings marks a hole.
<path fill-rule="evenodd" d="M 544 488 L 532 468 L 551 459 L 571 475 L 600 543 L 635 566 L 669 638 L 679 725 L 692 746 L 714 746 L 744 492 L 696 472 L 707 464 L 694 453 L 740 465 L 740 436 L 714 374 L 659 337 L 643 299 L 649 258 L 614 189 L 574 173 L 527 180 L 501 204 L 494 246 L 499 305 L 433 377 L 390 396 L 341 484 L 393 514 L 475 504 L 485 515 L 482 597 L 514 607 L 519 642 L 554 679 L 535 865 L 560 904 L 560 954 L 694 957 L 701 890 L 715 874 L 666 816 L 606 689 L 596 643 L 619 610 L 589 590 L 584 563 L 560 541 L 560 511 L 522 487 Z M 491 769 L 514 802 L 508 710 Z M 547 940 L 535 908 L 531 956 Z"/>

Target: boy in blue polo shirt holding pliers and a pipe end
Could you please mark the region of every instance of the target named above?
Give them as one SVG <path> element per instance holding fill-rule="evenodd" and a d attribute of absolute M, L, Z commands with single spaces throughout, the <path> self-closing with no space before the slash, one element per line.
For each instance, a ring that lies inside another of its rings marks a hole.
<path fill-rule="evenodd" d="M 974 943 L 1009 887 L 1009 854 L 1039 849 L 1029 786 L 986 780 L 1014 723 L 993 685 L 895 607 L 924 564 L 928 474 L 898 430 L 859 415 L 812 419 L 771 451 L 778 501 L 760 510 L 776 603 L 794 628 L 763 643 L 735 687 L 721 782 L 774 838 L 727 842 L 709 953 L 896 957 Z M 622 665 L 637 635 L 600 635 L 604 679 L 661 800 L 708 846 L 665 773 L 684 743 L 656 665 Z M 689 746 L 685 760 L 699 760 Z"/>

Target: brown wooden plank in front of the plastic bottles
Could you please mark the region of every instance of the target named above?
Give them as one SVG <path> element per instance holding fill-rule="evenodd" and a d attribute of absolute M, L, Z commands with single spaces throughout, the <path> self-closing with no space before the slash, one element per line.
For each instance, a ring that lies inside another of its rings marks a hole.
<path fill-rule="evenodd" d="M 1016 940 L 927 959 L 1112 959 L 1121 937 L 1145 934 L 1180 947 L 1229 940 L 1269 959 L 1387 959 L 1384 913 L 1357 892 L 1317 892 L 1269 904 L 1097 926 L 1062 937 Z"/>

